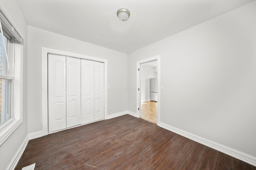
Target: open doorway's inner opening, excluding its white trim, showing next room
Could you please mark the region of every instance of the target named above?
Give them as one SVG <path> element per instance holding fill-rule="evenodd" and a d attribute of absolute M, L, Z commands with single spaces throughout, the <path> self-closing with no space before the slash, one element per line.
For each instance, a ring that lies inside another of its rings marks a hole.
<path fill-rule="evenodd" d="M 141 118 L 157 123 L 157 60 L 141 64 Z"/>

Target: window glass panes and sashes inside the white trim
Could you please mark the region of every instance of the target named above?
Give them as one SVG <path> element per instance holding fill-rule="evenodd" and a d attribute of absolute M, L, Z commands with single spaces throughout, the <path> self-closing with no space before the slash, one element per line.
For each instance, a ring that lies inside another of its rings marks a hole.
<path fill-rule="evenodd" d="M 8 58 L 4 49 L 4 43 L 6 45 L 6 50 L 9 51 L 9 39 L 4 36 L 2 37 L 2 33 L 0 34 L 0 126 L 3 125 L 6 121 L 12 118 L 11 113 L 11 94 L 12 94 L 12 80 L 13 76 L 10 75 L 11 72 L 9 70 L 10 57 Z M 11 69 L 11 68 L 10 68 Z"/>

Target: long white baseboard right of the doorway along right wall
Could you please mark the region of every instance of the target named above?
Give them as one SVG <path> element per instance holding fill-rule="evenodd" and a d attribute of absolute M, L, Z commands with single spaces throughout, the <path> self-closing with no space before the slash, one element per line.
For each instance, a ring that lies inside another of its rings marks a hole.
<path fill-rule="evenodd" d="M 167 124 L 162 123 L 162 122 L 159 123 L 159 126 L 164 128 L 164 129 L 167 129 L 169 131 L 172 131 L 174 133 L 177 133 L 179 135 L 182 135 L 182 136 L 184 136 L 184 137 L 186 137 L 188 139 L 191 139 L 193 141 L 201 143 L 202 145 L 206 145 L 207 147 L 210 147 L 212 149 L 215 149 L 215 150 L 218 150 L 218 151 L 223 152 L 225 154 L 228 154 L 228 155 L 230 155 L 230 156 L 232 156 L 234 158 L 237 158 L 239 160 L 242 160 L 244 162 L 247 162 L 248 164 L 256 166 L 256 158 L 253 157 L 253 156 L 250 156 L 250 155 L 245 154 L 243 152 L 240 152 L 238 150 L 226 147 L 226 146 L 221 145 L 219 143 L 210 141 L 208 139 L 202 138 L 200 136 L 194 135 L 192 133 L 188 133 L 186 131 L 183 131 L 183 130 L 178 129 L 176 127 L 172 127 L 172 126 L 167 125 Z"/>

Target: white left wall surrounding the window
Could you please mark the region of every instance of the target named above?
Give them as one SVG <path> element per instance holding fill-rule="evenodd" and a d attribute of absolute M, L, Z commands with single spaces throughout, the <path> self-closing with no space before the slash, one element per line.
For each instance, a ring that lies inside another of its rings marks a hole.
<path fill-rule="evenodd" d="M 27 32 L 28 26 L 15 0 L 0 0 L 0 8 L 7 14 L 24 38 L 23 45 L 23 119 L 22 124 L 0 146 L 0 170 L 5 170 L 28 134 L 27 123 Z"/>

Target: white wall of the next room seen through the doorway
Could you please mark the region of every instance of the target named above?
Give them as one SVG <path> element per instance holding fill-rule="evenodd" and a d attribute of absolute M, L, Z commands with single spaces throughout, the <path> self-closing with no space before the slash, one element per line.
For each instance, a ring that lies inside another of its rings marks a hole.
<path fill-rule="evenodd" d="M 150 101 L 150 78 L 156 78 L 154 67 L 141 64 L 141 102 Z"/>

